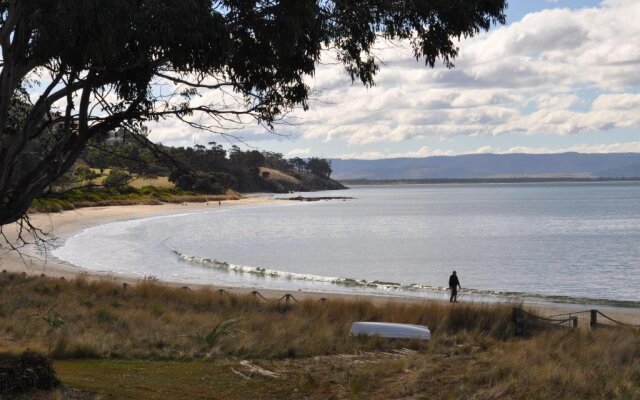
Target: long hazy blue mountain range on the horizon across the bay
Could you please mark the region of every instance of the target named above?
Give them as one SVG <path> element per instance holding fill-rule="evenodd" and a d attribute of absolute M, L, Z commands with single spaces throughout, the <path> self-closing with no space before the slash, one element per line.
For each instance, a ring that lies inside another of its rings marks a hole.
<path fill-rule="evenodd" d="M 331 163 L 337 180 L 640 177 L 640 153 L 469 154 Z"/>

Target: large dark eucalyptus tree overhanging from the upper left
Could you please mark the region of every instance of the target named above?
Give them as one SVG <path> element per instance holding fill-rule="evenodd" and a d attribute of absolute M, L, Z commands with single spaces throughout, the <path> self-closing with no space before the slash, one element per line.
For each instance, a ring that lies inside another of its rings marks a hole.
<path fill-rule="evenodd" d="M 448 67 L 455 39 L 504 23 L 506 0 L 0 0 L 0 226 L 92 137 L 177 118 L 226 132 L 308 107 L 330 49 L 372 85 L 374 45 Z"/>

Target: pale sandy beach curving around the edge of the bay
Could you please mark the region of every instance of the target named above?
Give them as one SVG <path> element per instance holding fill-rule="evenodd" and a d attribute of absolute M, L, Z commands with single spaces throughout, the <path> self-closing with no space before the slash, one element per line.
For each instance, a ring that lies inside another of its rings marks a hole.
<path fill-rule="evenodd" d="M 218 202 L 208 203 L 182 203 L 182 204 L 163 204 L 163 205 L 133 205 L 133 206 L 108 206 L 108 207 L 91 207 L 80 208 L 72 211 L 64 211 L 56 214 L 43 214 L 36 213 L 30 215 L 31 223 L 37 226 L 43 232 L 51 234 L 54 237 L 67 237 L 77 232 L 82 231 L 85 228 L 105 224 L 114 221 L 123 221 L 129 219 L 137 219 L 151 216 L 170 215 L 175 213 L 182 213 L 185 211 L 198 211 L 205 210 L 212 207 L 240 207 L 256 204 L 275 203 L 281 200 L 273 199 L 270 197 L 247 197 L 240 200 L 226 200 L 222 201 L 221 205 Z M 18 227 L 15 225 L 9 225 L 4 227 L 4 233 L 10 241 L 15 241 L 18 235 Z M 135 284 L 140 280 L 136 276 L 126 275 L 112 275 L 108 273 L 99 273 L 95 271 L 89 271 L 83 268 L 76 267 L 74 265 L 60 261 L 54 257 L 43 254 L 42 251 L 38 251 L 35 246 L 27 246 L 21 249 L 20 253 L 11 251 L 7 247 L 6 242 L 0 243 L 0 270 L 6 270 L 9 272 L 26 273 L 28 275 L 47 275 L 51 277 L 73 279 L 79 275 L 87 279 L 107 279 L 118 282 L 126 282 L 128 284 Z M 165 281 L 164 283 L 175 286 L 185 286 L 184 283 Z M 246 287 L 221 287 L 215 285 L 198 285 L 196 283 L 189 284 L 190 287 L 208 286 L 213 288 L 223 288 L 235 293 L 249 293 L 253 289 Z M 267 297 L 279 298 L 286 294 L 286 291 L 279 291 L 273 289 L 259 289 L 261 294 Z M 373 294 L 344 294 L 344 293 L 314 293 L 314 292 L 295 292 L 295 296 L 298 298 L 312 297 L 359 297 L 367 298 L 374 302 L 424 302 L 424 301 L 440 301 L 433 299 L 421 299 L 415 297 L 404 296 L 376 296 Z M 585 304 L 533 304 L 538 312 L 545 315 L 555 315 L 564 312 L 578 312 L 585 311 L 590 308 L 594 308 Z M 596 308 L 606 312 L 607 315 L 627 323 L 640 324 L 640 309 L 636 308 L 618 308 L 610 306 L 597 306 Z"/>

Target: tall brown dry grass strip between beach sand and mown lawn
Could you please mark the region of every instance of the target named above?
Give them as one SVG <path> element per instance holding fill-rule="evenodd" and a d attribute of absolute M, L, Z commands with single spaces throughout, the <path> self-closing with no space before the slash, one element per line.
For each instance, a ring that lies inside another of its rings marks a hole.
<path fill-rule="evenodd" d="M 0 315 L 3 347 L 16 352 L 31 348 L 58 359 L 282 359 L 425 346 L 349 337 L 354 321 L 424 324 L 439 338 L 499 340 L 512 332 L 511 311 L 504 305 L 374 305 L 355 300 L 288 305 L 152 281 L 124 289 L 110 281 L 12 274 L 0 276 Z M 53 326 L 55 318 L 64 322 Z M 199 340 L 230 319 L 238 321 L 215 340 Z"/>

